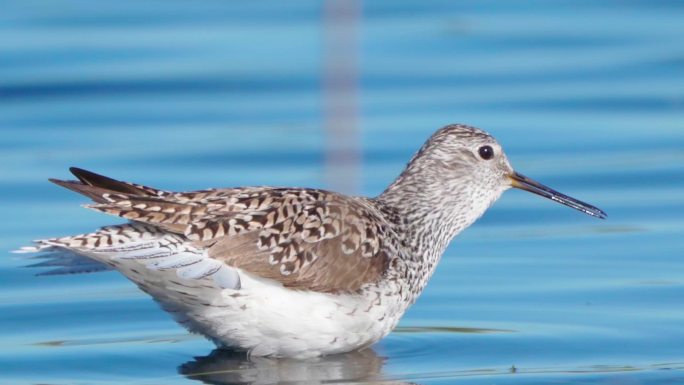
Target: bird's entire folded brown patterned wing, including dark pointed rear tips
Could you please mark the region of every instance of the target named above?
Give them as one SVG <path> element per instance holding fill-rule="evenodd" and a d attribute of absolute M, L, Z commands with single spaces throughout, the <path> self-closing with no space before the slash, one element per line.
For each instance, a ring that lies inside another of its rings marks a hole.
<path fill-rule="evenodd" d="M 359 198 L 264 187 L 170 193 L 125 184 L 139 191 L 123 191 L 93 175 L 54 182 L 95 200 L 88 207 L 183 234 L 211 258 L 286 287 L 354 292 L 377 282 L 390 262 L 382 244 L 390 230 Z"/>

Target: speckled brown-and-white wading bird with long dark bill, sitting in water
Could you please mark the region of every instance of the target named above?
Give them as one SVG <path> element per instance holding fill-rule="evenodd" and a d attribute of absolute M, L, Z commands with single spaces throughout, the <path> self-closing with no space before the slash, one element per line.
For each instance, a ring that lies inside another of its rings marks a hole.
<path fill-rule="evenodd" d="M 172 192 L 72 167 L 50 179 L 128 221 L 34 241 L 47 274 L 117 270 L 192 333 L 250 356 L 366 348 L 397 326 L 445 249 L 511 188 L 605 219 L 511 167 L 487 132 L 437 130 L 375 197 L 323 189 Z"/>

